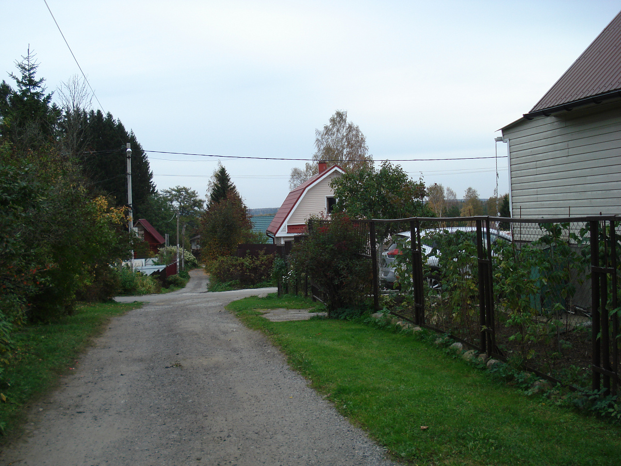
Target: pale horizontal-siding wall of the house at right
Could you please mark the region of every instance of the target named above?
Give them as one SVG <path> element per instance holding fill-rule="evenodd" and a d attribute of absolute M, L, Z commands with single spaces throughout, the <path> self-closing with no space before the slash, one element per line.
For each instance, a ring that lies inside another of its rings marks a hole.
<path fill-rule="evenodd" d="M 514 217 L 621 214 L 621 103 L 520 121 L 510 142 Z"/>

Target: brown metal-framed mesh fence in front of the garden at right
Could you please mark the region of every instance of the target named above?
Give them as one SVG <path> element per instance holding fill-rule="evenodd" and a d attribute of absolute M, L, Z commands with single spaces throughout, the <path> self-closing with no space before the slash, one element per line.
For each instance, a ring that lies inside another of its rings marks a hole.
<path fill-rule="evenodd" d="M 327 221 L 322 221 L 327 222 Z M 569 388 L 621 383 L 620 216 L 353 221 L 374 308 Z M 413 241 L 410 239 L 414 239 Z"/>

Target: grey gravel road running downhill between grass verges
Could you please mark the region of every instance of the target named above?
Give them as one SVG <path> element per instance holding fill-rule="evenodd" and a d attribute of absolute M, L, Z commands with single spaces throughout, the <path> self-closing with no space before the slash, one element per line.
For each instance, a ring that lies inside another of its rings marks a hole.
<path fill-rule="evenodd" d="M 225 311 L 265 290 L 184 290 L 112 320 L 37 403 L 0 465 L 391 465 L 258 332 Z"/>

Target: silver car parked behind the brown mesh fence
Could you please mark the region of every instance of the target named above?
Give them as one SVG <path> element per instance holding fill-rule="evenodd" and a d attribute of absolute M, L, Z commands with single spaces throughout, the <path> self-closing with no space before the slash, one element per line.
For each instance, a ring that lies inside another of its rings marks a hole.
<path fill-rule="evenodd" d="M 440 281 L 442 280 L 442 270 L 440 268 L 440 255 L 442 252 L 438 250 L 438 245 L 433 242 L 433 235 L 435 234 L 454 234 L 455 232 L 465 232 L 473 235 L 473 240 L 476 237 L 476 227 L 446 227 L 443 229 L 427 229 L 420 232 L 420 242 L 422 253 L 427 262 L 427 266 L 430 272 L 427 275 L 427 283 L 432 288 L 439 288 Z M 497 240 L 511 241 L 511 234 L 507 231 L 490 230 L 490 239 L 492 243 Z M 409 248 L 410 232 L 404 231 L 398 233 L 396 237 L 401 237 L 399 243 L 405 244 Z M 397 244 L 397 238 L 393 237 L 391 245 L 388 246 L 386 252 L 381 255 L 379 262 L 379 279 L 383 282 L 387 288 L 394 288 L 394 283 L 397 281 L 397 273 L 395 268 L 395 260 L 398 255 L 403 254 L 403 251 L 399 249 Z M 405 240 L 405 243 L 403 243 Z M 487 231 L 483 230 L 483 242 L 487 244 Z M 454 258 L 453 260 L 457 260 Z"/>

